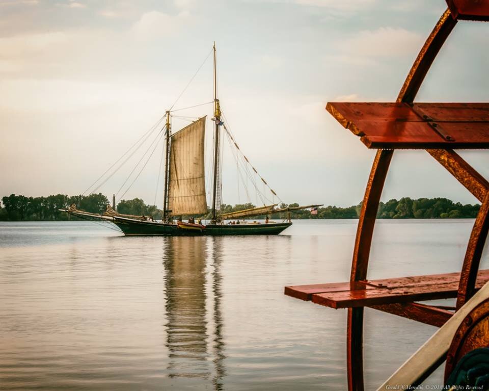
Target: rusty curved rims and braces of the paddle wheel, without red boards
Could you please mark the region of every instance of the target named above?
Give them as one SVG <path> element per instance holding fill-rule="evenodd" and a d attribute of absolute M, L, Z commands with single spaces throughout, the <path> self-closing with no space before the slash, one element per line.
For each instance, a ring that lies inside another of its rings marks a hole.
<path fill-rule="evenodd" d="M 450 9 L 443 13 L 406 77 L 397 97 L 397 102 L 414 102 L 432 62 L 455 27 L 457 20 L 458 17 L 454 16 Z M 489 182 L 453 150 L 427 149 L 426 151 L 482 202 L 471 232 L 460 274 L 456 306 L 458 309 L 474 294 L 482 249 L 489 232 Z M 375 155 L 357 228 L 355 250 L 351 263 L 350 281 L 352 282 L 367 278 L 375 218 L 393 152 L 393 150 L 377 150 Z M 452 315 L 452 312 L 448 310 L 419 303 L 379 305 L 372 308 L 435 326 L 443 325 Z M 349 391 L 364 390 L 363 315 L 363 307 L 348 309 L 347 376 Z M 425 315 L 430 316 L 426 317 Z M 429 373 L 434 369 L 436 368 L 430 369 Z M 429 373 L 425 375 L 427 376 Z"/>

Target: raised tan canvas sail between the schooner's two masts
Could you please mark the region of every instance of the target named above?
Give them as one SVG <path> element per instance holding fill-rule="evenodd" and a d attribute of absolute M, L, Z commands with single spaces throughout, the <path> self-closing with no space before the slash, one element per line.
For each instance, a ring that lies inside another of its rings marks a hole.
<path fill-rule="evenodd" d="M 172 216 L 207 213 L 204 134 L 202 117 L 171 137 L 168 210 Z"/>

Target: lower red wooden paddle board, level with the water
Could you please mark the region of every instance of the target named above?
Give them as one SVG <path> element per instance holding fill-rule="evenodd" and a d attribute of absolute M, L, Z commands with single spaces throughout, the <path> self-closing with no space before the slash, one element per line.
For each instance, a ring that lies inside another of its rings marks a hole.
<path fill-rule="evenodd" d="M 357 283 L 286 286 L 285 294 L 332 308 L 352 308 L 457 296 L 460 273 L 432 274 Z M 489 281 L 489 270 L 478 273 L 475 288 Z"/>

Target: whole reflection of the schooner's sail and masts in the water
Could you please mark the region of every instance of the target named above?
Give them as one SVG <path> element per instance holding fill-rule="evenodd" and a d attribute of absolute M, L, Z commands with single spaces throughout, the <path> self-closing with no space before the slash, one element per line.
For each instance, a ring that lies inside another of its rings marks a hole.
<path fill-rule="evenodd" d="M 221 312 L 220 238 L 166 238 L 167 375 L 223 389 L 226 358 Z"/>

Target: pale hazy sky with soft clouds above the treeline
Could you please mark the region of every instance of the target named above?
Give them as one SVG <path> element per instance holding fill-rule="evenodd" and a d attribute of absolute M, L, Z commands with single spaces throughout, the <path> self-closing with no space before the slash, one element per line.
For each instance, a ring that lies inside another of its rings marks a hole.
<path fill-rule="evenodd" d="M 445 9 L 442 0 L 0 0 L 0 196 L 83 193 L 174 104 L 215 41 L 229 128 L 280 200 L 357 204 L 375 151 L 325 105 L 394 101 Z M 416 100 L 487 101 L 488 44 L 486 24 L 459 22 Z M 174 109 L 212 94 L 210 56 Z M 212 107 L 174 114 L 210 118 Z M 175 117 L 173 128 L 186 123 Z M 208 132 L 208 150 L 211 141 Z M 483 151 L 460 154 L 489 176 Z M 125 192 L 135 154 L 97 192 L 161 207 L 160 158 L 156 147 Z M 223 202 L 260 204 L 229 150 L 223 158 Z M 394 153 L 382 199 L 401 197 L 476 202 L 425 151 Z"/>

